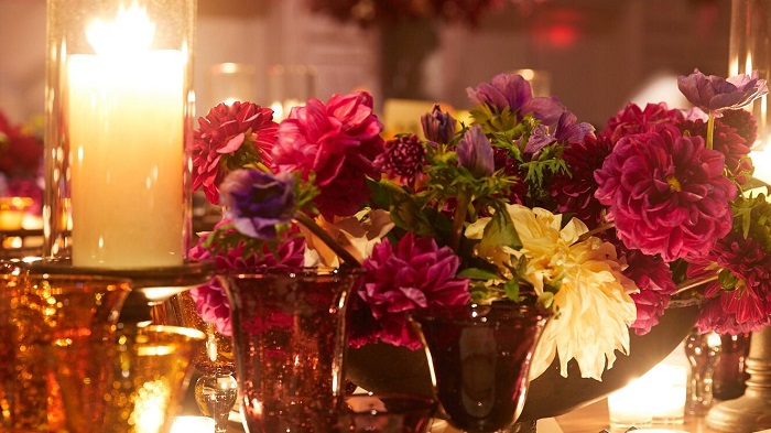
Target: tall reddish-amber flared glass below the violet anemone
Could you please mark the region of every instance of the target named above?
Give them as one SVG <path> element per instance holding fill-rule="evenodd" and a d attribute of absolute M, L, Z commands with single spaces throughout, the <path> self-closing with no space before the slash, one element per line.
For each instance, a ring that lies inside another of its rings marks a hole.
<path fill-rule="evenodd" d="M 335 427 L 345 397 L 345 310 L 359 277 L 317 268 L 222 275 L 232 308 L 239 404 L 249 432 L 327 433 Z"/>

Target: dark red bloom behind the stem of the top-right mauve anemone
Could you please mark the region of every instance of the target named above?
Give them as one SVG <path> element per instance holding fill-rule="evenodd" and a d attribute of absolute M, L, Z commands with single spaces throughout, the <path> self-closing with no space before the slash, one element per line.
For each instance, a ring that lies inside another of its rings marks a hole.
<path fill-rule="evenodd" d="M 723 120 L 724 118 L 719 118 L 715 121 L 713 149 L 726 156 L 726 169 L 739 185 L 743 185 L 750 180 L 753 171 L 752 160 L 749 158 L 750 147 L 736 129 Z M 703 120 L 684 121 L 680 125 L 680 129 L 683 132 L 688 131 L 692 136 L 705 139 L 707 137 L 707 123 Z"/>

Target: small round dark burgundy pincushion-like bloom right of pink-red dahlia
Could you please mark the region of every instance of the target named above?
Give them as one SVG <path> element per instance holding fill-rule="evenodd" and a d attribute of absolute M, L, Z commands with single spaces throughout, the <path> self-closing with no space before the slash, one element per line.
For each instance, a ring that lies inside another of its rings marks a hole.
<path fill-rule="evenodd" d="M 374 160 L 383 173 L 409 185 L 423 172 L 425 163 L 425 148 L 414 133 L 388 140 L 386 150 Z"/>

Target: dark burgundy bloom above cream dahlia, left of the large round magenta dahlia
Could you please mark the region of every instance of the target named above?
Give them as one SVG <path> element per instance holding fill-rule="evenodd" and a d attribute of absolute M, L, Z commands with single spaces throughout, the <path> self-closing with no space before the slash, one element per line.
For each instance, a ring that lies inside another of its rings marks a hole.
<path fill-rule="evenodd" d="M 590 228 L 602 223 L 605 206 L 595 197 L 598 185 L 594 172 L 602 166 L 612 150 L 613 143 L 605 136 L 588 136 L 583 142 L 565 148 L 563 159 L 571 174 L 560 173 L 551 183 L 560 213 L 575 214 Z"/>

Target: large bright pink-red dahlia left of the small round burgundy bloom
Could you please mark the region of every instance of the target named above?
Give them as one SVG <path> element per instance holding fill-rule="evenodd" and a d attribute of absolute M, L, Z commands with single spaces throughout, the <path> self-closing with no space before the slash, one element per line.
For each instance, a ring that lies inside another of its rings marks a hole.
<path fill-rule="evenodd" d="M 367 93 L 311 99 L 281 122 L 273 163 L 306 181 L 315 174 L 321 194 L 314 203 L 325 218 L 350 216 L 369 198 L 367 176 L 380 178 L 374 159 L 383 152 L 382 129 Z"/>

